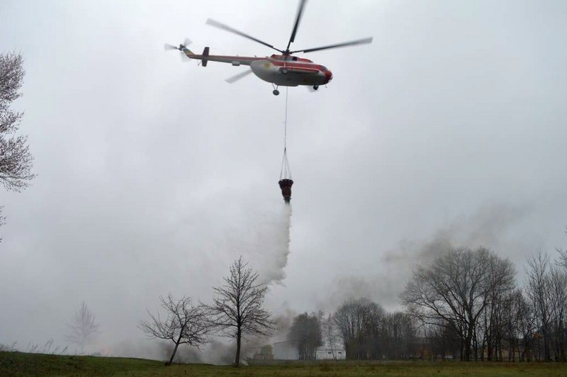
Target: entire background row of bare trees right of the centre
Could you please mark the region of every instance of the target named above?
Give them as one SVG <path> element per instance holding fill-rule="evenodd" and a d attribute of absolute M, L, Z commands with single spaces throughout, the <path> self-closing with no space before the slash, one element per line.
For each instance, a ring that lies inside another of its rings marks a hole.
<path fill-rule="evenodd" d="M 305 360 L 326 343 L 348 359 L 567 361 L 567 251 L 558 252 L 558 261 L 529 257 L 519 286 L 510 260 L 482 247 L 451 249 L 414 271 L 400 294 L 405 312 L 347 300 L 326 318 L 298 315 L 288 339 Z"/>

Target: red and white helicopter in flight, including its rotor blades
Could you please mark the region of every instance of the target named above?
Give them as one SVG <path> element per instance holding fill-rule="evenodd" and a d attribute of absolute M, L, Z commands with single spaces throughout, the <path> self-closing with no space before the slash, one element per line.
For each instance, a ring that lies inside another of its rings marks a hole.
<path fill-rule="evenodd" d="M 329 50 L 331 48 L 346 47 L 352 45 L 363 45 L 366 43 L 371 43 L 372 38 L 363 38 L 359 40 L 351 40 L 344 43 L 336 43 L 334 45 L 326 45 L 322 47 L 313 47 L 303 50 L 290 50 L 291 43 L 296 39 L 296 33 L 298 30 L 299 22 L 301 21 L 301 15 L 303 14 L 303 8 L 307 0 L 301 0 L 299 2 L 298 12 L 296 16 L 296 22 L 293 25 L 293 30 L 291 31 L 291 37 L 289 38 L 288 45 L 285 50 L 270 45 L 269 43 L 252 37 L 246 33 L 242 33 L 240 30 L 231 28 L 230 26 L 220 23 L 218 21 L 208 19 L 207 24 L 214 26 L 215 28 L 220 28 L 222 30 L 228 31 L 240 35 L 241 37 L 247 38 L 249 40 L 254 40 L 254 42 L 260 43 L 264 46 L 274 49 L 280 54 L 274 54 L 269 57 L 246 57 L 246 56 L 228 56 L 228 55 L 210 55 L 209 47 L 205 47 L 203 53 L 200 55 L 195 54 L 187 48 L 191 41 L 185 40 L 184 43 L 179 44 L 179 46 L 165 44 L 165 50 L 179 50 L 181 52 L 181 58 L 186 60 L 186 57 L 194 60 L 201 60 L 201 65 L 203 67 L 207 66 L 208 62 L 221 62 L 229 63 L 233 66 L 247 65 L 250 69 L 245 72 L 241 72 L 233 77 L 226 79 L 229 84 L 246 77 L 248 74 L 254 73 L 259 79 L 268 81 L 272 84 L 274 91 L 272 93 L 274 96 L 279 95 L 279 86 L 298 86 L 305 85 L 311 86 L 313 90 L 318 90 L 319 86 L 328 84 L 332 80 L 332 72 L 327 69 L 324 65 L 316 64 L 312 60 L 305 59 L 303 57 L 296 57 L 296 52 L 314 52 L 320 50 Z"/>

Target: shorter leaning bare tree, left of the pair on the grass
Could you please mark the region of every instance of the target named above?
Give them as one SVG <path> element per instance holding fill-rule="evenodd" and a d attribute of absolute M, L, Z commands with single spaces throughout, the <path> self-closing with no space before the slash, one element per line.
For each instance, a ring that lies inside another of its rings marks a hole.
<path fill-rule="evenodd" d="M 189 344 L 199 347 L 207 342 L 207 336 L 211 325 L 208 313 L 204 305 L 193 305 L 190 297 L 183 296 L 176 300 L 172 293 L 167 298 L 159 297 L 162 308 L 166 311 L 166 317 L 162 319 L 159 312 L 150 315 L 149 321 L 142 321 L 138 328 L 152 339 L 166 339 L 174 343 L 172 355 L 165 365 L 173 362 L 177 348 L 180 344 Z"/>

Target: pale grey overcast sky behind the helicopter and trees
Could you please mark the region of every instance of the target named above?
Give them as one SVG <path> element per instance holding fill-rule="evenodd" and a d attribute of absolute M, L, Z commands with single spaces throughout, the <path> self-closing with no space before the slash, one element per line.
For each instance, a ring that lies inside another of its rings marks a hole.
<path fill-rule="evenodd" d="M 527 255 L 567 247 L 566 1 L 308 1 L 294 49 L 374 42 L 304 55 L 334 78 L 288 92 L 291 213 L 286 89 L 227 84 L 245 68 L 163 44 L 271 55 L 206 19 L 284 48 L 296 9 L 0 0 L 38 174 L 0 191 L 0 343 L 65 344 L 84 301 L 116 353 L 160 295 L 210 300 L 241 254 L 279 314 L 357 296 L 398 308 L 439 244 L 493 249 L 520 280 Z"/>

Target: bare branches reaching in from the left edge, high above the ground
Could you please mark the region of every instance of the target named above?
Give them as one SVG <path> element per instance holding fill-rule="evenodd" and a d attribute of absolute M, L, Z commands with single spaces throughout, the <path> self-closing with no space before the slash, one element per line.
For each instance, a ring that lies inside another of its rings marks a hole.
<path fill-rule="evenodd" d="M 20 54 L 0 54 L 0 181 L 12 191 L 28 186 L 35 176 L 31 173 L 33 157 L 27 145 L 28 137 L 14 136 L 23 113 L 12 111 L 13 101 L 21 96 L 23 59 Z"/>

